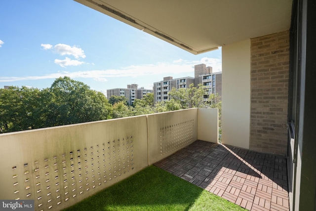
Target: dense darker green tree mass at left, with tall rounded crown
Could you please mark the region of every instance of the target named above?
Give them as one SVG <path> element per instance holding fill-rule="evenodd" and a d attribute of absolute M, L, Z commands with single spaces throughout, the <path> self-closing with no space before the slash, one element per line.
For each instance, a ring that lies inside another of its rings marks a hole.
<path fill-rule="evenodd" d="M 0 132 L 106 120 L 112 106 L 104 94 L 69 77 L 50 88 L 0 89 Z"/>

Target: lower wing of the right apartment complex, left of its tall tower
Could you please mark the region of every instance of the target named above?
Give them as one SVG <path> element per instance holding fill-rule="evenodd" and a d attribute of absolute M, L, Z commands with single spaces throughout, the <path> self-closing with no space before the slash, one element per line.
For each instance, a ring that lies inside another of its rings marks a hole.
<path fill-rule="evenodd" d="M 192 77 L 183 77 L 173 79 L 173 77 L 164 77 L 163 81 L 154 83 L 154 100 L 155 102 L 159 101 L 168 101 L 170 97 L 168 95 L 172 87 L 176 89 L 187 88 L 190 84 L 194 84 L 194 78 Z"/>

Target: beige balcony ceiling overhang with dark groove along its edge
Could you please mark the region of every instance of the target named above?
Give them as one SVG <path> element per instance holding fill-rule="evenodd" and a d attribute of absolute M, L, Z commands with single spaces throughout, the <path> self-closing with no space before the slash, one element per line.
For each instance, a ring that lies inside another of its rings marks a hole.
<path fill-rule="evenodd" d="M 289 30 L 292 0 L 76 0 L 193 54 Z"/>

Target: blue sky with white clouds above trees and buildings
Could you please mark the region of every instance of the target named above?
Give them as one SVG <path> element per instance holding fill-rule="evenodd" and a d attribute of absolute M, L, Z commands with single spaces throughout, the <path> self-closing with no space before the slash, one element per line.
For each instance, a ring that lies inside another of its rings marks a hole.
<path fill-rule="evenodd" d="M 50 87 L 58 77 L 92 89 L 152 88 L 163 77 L 221 71 L 221 50 L 194 55 L 73 0 L 0 4 L 0 87 Z"/>

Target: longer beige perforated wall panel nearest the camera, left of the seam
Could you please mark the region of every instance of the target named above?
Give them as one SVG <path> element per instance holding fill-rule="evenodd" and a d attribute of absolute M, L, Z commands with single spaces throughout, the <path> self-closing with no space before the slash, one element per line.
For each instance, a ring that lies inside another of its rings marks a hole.
<path fill-rule="evenodd" d="M 0 199 L 34 199 L 39 211 L 69 207 L 148 165 L 146 116 L 0 140 Z"/>

